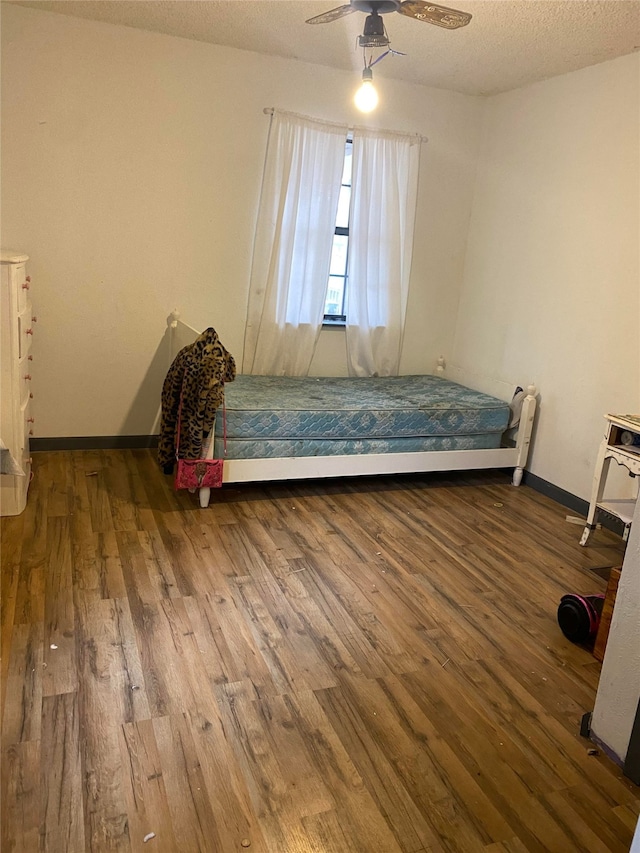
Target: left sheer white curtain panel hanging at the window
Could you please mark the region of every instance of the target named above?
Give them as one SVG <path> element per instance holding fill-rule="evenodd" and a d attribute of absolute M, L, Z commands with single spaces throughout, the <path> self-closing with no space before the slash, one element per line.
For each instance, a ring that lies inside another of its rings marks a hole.
<path fill-rule="evenodd" d="M 302 376 L 322 328 L 347 127 L 274 112 L 243 372 Z"/>

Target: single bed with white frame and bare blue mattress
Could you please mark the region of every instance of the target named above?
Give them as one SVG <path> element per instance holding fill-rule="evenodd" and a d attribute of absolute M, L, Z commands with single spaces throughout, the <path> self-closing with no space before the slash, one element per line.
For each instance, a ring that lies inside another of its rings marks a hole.
<path fill-rule="evenodd" d="M 177 312 L 169 321 L 173 358 L 199 333 Z M 224 483 L 513 468 L 519 485 L 535 386 L 494 383 L 495 396 L 444 374 L 439 359 L 422 376 L 238 375 L 226 385 L 226 418 L 218 410 L 208 456 L 224 455 L 226 420 Z M 200 489 L 201 506 L 209 497 Z"/>

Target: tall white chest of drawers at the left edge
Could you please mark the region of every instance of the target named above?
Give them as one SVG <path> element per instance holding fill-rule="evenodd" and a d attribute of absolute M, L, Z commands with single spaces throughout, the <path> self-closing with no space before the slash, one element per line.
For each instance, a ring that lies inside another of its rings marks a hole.
<path fill-rule="evenodd" d="M 31 479 L 31 342 L 36 318 L 31 306 L 28 260 L 20 252 L 0 252 L 0 439 L 5 448 L 1 451 L 2 470 L 10 467 L 19 472 L 0 474 L 0 515 L 22 512 Z"/>

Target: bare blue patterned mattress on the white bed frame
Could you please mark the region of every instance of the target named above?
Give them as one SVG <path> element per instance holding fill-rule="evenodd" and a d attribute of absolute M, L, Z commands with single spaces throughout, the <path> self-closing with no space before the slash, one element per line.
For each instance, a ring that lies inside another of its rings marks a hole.
<path fill-rule="evenodd" d="M 230 459 L 495 448 L 509 420 L 507 403 L 439 376 L 240 375 L 225 390 Z"/>

